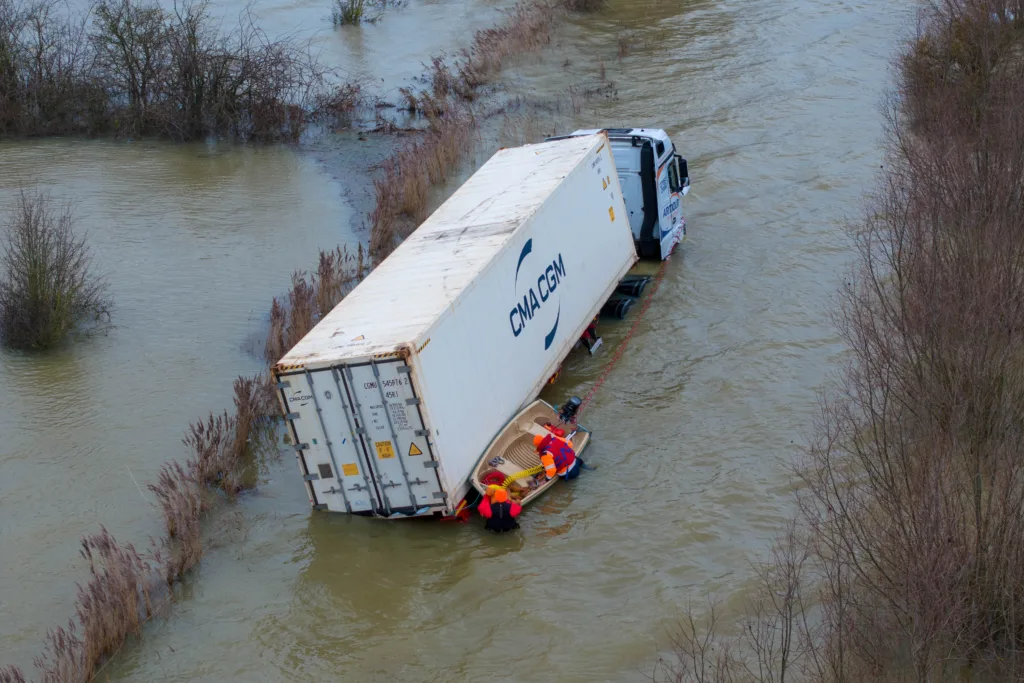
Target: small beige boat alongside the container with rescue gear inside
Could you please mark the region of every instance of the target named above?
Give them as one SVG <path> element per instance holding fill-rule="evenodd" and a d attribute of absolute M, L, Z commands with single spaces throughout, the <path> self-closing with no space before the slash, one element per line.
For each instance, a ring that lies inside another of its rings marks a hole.
<path fill-rule="evenodd" d="M 501 485 L 506 478 L 519 474 L 521 476 L 509 483 L 508 490 L 509 498 L 520 505 L 526 505 L 550 488 L 561 477 L 548 479 L 543 469 L 537 474 L 525 473 L 542 467 L 541 456 L 534 446 L 534 436 L 551 433 L 545 425 L 563 429 L 578 456 L 590 442 L 589 430 L 575 423 L 564 422 L 554 407 L 538 398 L 512 418 L 483 452 L 473 470 L 473 487 L 484 496 L 489 484 Z M 583 466 L 582 462 L 580 466 Z"/>

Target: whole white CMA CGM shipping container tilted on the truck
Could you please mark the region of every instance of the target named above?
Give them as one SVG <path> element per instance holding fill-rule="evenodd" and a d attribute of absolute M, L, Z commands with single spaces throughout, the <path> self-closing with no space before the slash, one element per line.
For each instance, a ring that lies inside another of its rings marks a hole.
<path fill-rule="evenodd" d="M 453 512 L 636 260 L 603 133 L 497 153 L 274 367 L 313 507 Z"/>

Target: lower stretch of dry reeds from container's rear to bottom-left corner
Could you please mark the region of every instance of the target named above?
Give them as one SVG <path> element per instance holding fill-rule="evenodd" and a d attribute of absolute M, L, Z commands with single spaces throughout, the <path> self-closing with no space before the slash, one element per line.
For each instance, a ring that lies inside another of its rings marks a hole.
<path fill-rule="evenodd" d="M 103 663 L 167 602 L 169 589 L 203 557 L 202 522 L 216 502 L 214 492 L 228 500 L 252 486 L 248 476 L 254 445 L 276 413 L 269 376 L 234 381 L 234 415 L 211 415 L 189 425 L 184 443 L 193 451 L 185 465 L 164 465 L 147 488 L 157 497 L 167 536 L 150 553 L 120 545 L 105 528 L 82 541 L 89 562 L 89 581 L 79 587 L 76 618 L 46 635 L 43 654 L 36 658 L 42 681 L 85 683 Z M 158 604 L 159 603 L 159 604 Z M 25 681 L 13 668 L 0 669 L 0 681 Z"/>

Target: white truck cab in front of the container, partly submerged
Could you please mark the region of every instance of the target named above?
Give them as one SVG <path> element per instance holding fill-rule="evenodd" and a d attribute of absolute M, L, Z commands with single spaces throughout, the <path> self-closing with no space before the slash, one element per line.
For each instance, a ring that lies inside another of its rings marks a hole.
<path fill-rule="evenodd" d="M 682 210 L 682 199 L 690 191 L 686 160 L 659 128 L 578 130 L 548 139 L 600 132 L 611 143 L 637 254 L 641 258 L 668 258 L 686 234 Z"/>

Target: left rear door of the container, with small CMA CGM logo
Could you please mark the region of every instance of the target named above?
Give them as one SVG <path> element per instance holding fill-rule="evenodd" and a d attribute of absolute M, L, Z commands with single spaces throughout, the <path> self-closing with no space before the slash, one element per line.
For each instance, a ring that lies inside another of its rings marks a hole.
<path fill-rule="evenodd" d="M 340 373 L 317 370 L 283 377 L 296 452 L 317 509 L 373 513 L 381 508 Z"/>

